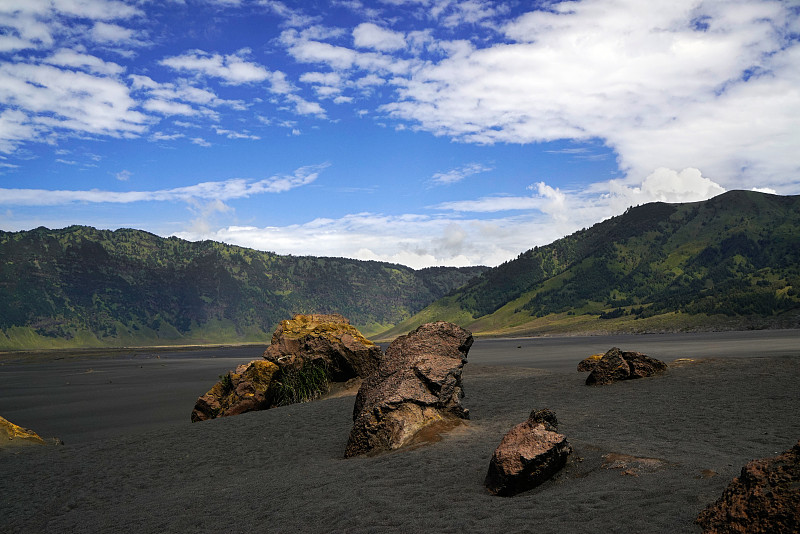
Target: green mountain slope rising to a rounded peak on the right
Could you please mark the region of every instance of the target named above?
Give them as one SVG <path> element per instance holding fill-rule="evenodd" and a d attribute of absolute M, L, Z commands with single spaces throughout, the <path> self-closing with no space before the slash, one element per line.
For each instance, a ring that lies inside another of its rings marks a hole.
<path fill-rule="evenodd" d="M 381 334 L 431 319 L 475 333 L 800 326 L 800 196 L 661 202 L 520 254 Z"/>

